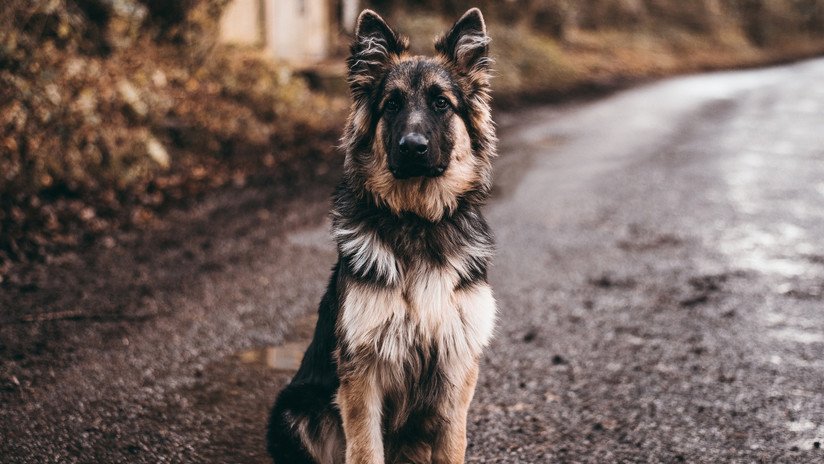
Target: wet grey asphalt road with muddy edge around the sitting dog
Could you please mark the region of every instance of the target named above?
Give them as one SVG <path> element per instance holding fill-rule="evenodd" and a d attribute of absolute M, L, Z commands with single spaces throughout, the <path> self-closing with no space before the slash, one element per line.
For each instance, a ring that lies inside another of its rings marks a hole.
<path fill-rule="evenodd" d="M 824 462 L 822 82 L 817 60 L 501 115 L 469 462 Z M 2 287 L 0 461 L 266 462 L 335 258 L 320 177 Z"/>

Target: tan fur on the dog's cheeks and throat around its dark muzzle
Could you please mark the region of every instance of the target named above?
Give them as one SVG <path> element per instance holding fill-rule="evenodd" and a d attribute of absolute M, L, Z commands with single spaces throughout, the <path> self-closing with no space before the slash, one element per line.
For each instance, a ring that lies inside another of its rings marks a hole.
<path fill-rule="evenodd" d="M 374 156 L 366 179 L 366 189 L 372 193 L 375 201 L 386 205 L 395 214 L 411 212 L 432 222 L 453 212 L 460 196 L 476 186 L 479 180 L 479 161 L 472 153 L 469 132 L 463 120 L 453 117 L 450 130 L 455 145 L 449 169 L 443 176 L 397 180 L 387 168 L 383 127 L 379 125 L 373 143 Z"/>

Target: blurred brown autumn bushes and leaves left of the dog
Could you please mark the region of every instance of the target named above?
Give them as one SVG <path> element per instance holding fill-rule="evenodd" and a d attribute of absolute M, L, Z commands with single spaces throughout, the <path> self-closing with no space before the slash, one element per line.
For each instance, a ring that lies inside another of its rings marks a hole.
<path fill-rule="evenodd" d="M 0 282 L 12 263 L 112 244 L 207 190 L 330 161 L 345 102 L 216 44 L 225 3 L 4 4 Z"/>

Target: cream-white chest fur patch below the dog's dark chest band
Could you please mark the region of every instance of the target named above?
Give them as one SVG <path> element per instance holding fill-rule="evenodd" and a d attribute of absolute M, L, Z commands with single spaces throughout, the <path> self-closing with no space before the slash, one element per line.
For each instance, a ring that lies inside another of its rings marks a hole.
<path fill-rule="evenodd" d="M 435 344 L 444 360 L 475 359 L 492 338 L 495 299 L 483 282 L 456 289 L 459 279 L 454 266 L 421 265 L 392 287 L 350 283 L 341 308 L 344 340 L 392 364 L 421 344 Z"/>

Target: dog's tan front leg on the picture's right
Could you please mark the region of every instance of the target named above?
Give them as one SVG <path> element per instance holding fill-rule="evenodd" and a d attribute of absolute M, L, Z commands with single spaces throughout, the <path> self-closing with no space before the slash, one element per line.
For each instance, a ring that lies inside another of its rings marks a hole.
<path fill-rule="evenodd" d="M 457 382 L 454 391 L 447 395 L 442 404 L 442 417 L 446 418 L 437 433 L 433 447 L 433 464 L 458 464 L 466 455 L 466 420 L 469 404 L 475 394 L 478 381 L 478 362 L 474 361 L 462 382 Z"/>

